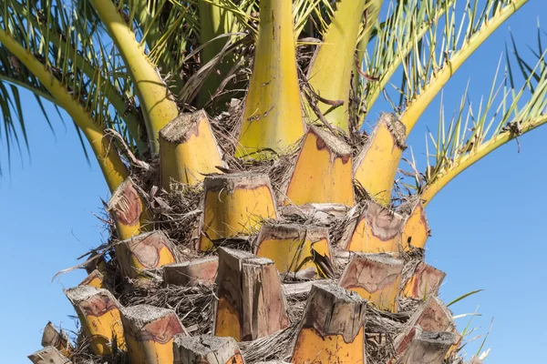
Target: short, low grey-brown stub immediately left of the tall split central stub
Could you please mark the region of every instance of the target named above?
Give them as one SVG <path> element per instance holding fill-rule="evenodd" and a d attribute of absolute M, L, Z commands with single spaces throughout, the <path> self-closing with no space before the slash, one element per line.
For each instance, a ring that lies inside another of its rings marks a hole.
<path fill-rule="evenodd" d="M 212 286 L 219 268 L 218 257 L 192 259 L 163 267 L 163 282 L 176 286 Z"/>

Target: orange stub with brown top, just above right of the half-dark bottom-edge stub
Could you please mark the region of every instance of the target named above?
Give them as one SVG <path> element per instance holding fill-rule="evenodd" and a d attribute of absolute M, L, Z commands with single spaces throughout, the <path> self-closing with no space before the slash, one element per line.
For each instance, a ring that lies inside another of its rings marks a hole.
<path fill-rule="evenodd" d="M 344 270 L 340 286 L 378 309 L 397 312 L 402 270 L 403 261 L 388 254 L 356 254 Z"/>

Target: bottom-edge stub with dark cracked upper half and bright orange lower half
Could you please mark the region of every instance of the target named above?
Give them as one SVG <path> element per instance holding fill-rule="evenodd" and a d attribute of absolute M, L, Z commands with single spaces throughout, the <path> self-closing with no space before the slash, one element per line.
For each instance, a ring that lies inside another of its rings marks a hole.
<path fill-rule="evenodd" d="M 315 284 L 294 341 L 294 364 L 364 364 L 366 300 L 333 283 Z"/>

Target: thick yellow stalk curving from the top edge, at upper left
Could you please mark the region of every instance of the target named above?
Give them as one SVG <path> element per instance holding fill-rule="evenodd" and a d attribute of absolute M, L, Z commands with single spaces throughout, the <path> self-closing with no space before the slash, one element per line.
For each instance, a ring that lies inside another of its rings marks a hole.
<path fill-rule="evenodd" d="M 89 3 L 93 5 L 107 27 L 108 35 L 116 43 L 127 66 L 143 109 L 150 147 L 154 153 L 157 153 L 160 129 L 179 115 L 179 108 L 172 100 L 160 73 L 144 54 L 131 28 L 119 14 L 116 5 L 110 0 L 89 0 Z"/>

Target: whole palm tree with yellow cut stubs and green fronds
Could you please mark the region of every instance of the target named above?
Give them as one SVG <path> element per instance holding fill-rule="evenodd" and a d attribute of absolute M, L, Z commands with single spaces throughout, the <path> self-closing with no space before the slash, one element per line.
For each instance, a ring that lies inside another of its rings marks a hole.
<path fill-rule="evenodd" d="M 48 325 L 33 362 L 458 362 L 424 208 L 547 122 L 542 35 L 397 177 L 420 116 L 527 0 L 384 3 L 4 0 L 8 148 L 26 88 L 112 194 L 108 244 L 66 291 L 81 333 Z M 381 96 L 392 112 L 361 132 Z"/>

